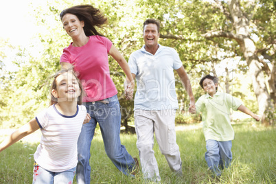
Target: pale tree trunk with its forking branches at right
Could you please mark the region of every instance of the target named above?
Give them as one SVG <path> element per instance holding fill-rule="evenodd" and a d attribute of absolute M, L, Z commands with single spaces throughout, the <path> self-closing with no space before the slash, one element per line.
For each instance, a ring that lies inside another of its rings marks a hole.
<path fill-rule="evenodd" d="M 269 69 L 268 65 L 257 56 L 257 53 L 261 52 L 265 56 L 268 55 L 266 52 L 269 50 L 268 48 L 275 45 L 275 32 L 274 34 L 273 32 L 271 32 L 272 34 L 270 37 L 272 38 L 272 42 L 266 46 L 266 51 L 258 51 L 252 38 L 253 35 L 251 35 L 253 34 L 251 32 L 251 29 L 254 28 L 252 27 L 251 21 L 257 21 L 252 20 L 254 18 L 254 14 L 252 12 L 255 12 L 253 10 L 258 4 L 255 1 L 247 1 L 247 3 L 242 3 L 244 4 L 244 11 L 242 10 L 242 6 L 240 5 L 240 1 L 238 0 L 227 1 L 228 7 L 224 3 L 224 1 L 216 0 L 217 7 L 220 8 L 223 14 L 225 14 L 225 16 L 227 17 L 226 20 L 231 23 L 231 31 L 228 32 L 227 30 L 211 30 L 203 34 L 203 36 L 208 39 L 215 37 L 229 38 L 235 40 L 238 43 L 244 59 L 249 66 L 249 73 L 252 79 L 253 89 L 255 91 L 257 102 L 259 104 L 259 111 L 262 115 L 262 121 L 264 122 L 266 111 L 268 110 L 268 108 L 273 106 L 271 99 L 275 100 L 275 60 L 271 60 L 271 63 L 273 64 L 273 69 Z M 262 6 L 262 4 L 260 6 Z M 266 10 L 268 10 L 268 12 L 271 11 L 272 14 L 273 12 L 275 12 L 275 10 L 270 10 L 269 8 Z M 255 26 L 255 29 L 260 29 L 260 27 Z M 263 48 L 260 49 L 264 50 Z M 273 52 L 275 58 L 275 49 Z M 271 56 L 271 58 L 273 58 L 273 56 Z M 262 65 L 260 65 L 260 63 L 262 63 L 263 67 Z M 271 95 L 268 93 L 263 71 L 265 71 L 266 74 L 268 74 L 268 78 L 270 78 L 269 84 L 271 87 Z"/>

